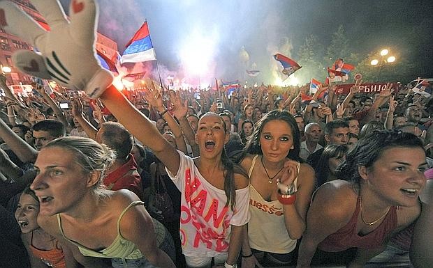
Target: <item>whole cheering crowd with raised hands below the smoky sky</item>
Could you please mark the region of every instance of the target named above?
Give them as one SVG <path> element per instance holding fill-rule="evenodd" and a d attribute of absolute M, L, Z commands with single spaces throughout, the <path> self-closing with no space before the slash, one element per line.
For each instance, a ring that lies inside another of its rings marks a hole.
<path fill-rule="evenodd" d="M 17 68 L 59 84 L 18 95 L 0 77 L 0 267 L 433 263 L 432 97 L 359 79 L 307 101 L 309 85 L 122 92 L 80 42 L 94 2 L 73 1 L 71 26 L 37 7 L 57 28 L 0 3 L 6 31 L 39 42 Z"/>

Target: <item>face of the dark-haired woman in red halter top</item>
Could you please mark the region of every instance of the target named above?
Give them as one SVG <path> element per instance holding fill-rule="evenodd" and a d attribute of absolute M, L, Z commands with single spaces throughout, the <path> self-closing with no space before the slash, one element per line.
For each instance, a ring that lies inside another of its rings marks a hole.
<path fill-rule="evenodd" d="M 411 207 L 425 185 L 427 170 L 421 148 L 395 147 L 384 150 L 367 171 L 367 187 L 388 205 Z"/>

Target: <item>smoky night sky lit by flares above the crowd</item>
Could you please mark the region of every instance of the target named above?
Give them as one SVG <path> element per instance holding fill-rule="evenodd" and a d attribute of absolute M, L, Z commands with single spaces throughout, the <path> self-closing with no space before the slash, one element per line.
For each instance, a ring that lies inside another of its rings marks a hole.
<path fill-rule="evenodd" d="M 69 1 L 61 1 L 68 3 Z M 433 77 L 433 1 L 276 1 L 276 0 L 101 0 L 98 31 L 124 45 L 147 19 L 159 65 L 181 72 L 185 49 L 207 59 L 210 77 L 237 78 L 256 63 L 273 68 L 272 54 L 283 48 L 296 60 L 305 37 L 318 36 L 327 47 L 332 33 L 344 26 L 353 52 L 367 54 L 388 47 L 397 58 L 416 62 L 416 74 Z M 429 11 L 430 10 L 430 11 Z M 200 43 L 202 45 L 200 47 Z M 193 42 L 193 44 L 191 44 Z M 240 49 L 249 62 L 240 63 Z M 198 50 L 205 47 L 204 52 Z M 284 50 L 283 49 L 283 50 Z M 182 75 L 188 76 L 186 70 Z M 262 78 L 266 80 L 266 77 Z"/>

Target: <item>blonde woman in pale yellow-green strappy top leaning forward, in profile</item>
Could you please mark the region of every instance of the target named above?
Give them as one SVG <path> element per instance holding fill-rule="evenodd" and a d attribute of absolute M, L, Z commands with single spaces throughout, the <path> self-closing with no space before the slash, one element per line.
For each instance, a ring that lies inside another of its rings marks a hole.
<path fill-rule="evenodd" d="M 174 268 L 162 250 L 171 237 L 157 239 L 158 226 L 138 196 L 103 187 L 114 159 L 113 150 L 87 138 L 47 143 L 34 164 L 37 175 L 31 184 L 40 202 L 39 226 L 67 244 L 85 267 Z"/>

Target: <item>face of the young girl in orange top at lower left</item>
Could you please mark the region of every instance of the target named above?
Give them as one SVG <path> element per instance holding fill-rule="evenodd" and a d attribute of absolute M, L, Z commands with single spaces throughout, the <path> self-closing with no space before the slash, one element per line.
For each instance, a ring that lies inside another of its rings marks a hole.
<path fill-rule="evenodd" d="M 29 194 L 22 194 L 15 211 L 15 219 L 20 225 L 21 232 L 27 233 L 39 228 L 36 221 L 39 214 L 39 202 Z"/>

